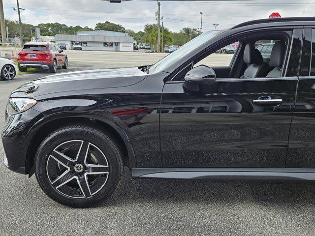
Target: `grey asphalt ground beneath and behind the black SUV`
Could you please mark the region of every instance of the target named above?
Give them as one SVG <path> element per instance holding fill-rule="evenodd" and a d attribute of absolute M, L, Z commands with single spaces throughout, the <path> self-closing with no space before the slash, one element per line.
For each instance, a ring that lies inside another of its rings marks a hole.
<path fill-rule="evenodd" d="M 68 56 L 73 71 L 137 66 L 165 55 L 69 51 Z M 216 61 L 230 57 L 217 56 Z M 41 71 L 0 81 L 1 130 L 10 91 L 48 74 Z M 121 185 L 108 201 L 76 209 L 53 202 L 34 176 L 29 179 L 7 170 L 0 158 L 0 190 L 0 236 L 315 235 L 312 182 L 131 179 L 125 169 Z"/>

